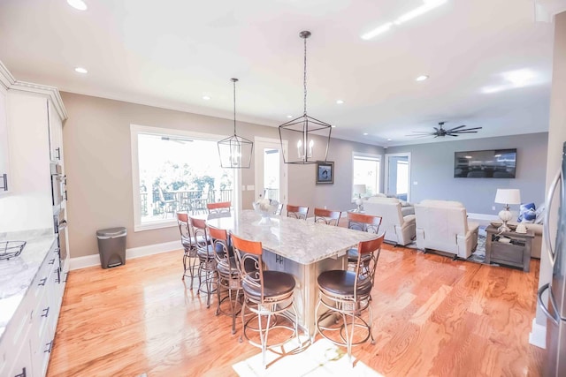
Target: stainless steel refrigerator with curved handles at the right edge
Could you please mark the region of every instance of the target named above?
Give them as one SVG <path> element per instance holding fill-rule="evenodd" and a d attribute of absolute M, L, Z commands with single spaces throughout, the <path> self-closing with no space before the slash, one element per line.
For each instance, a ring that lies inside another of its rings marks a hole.
<path fill-rule="evenodd" d="M 544 238 L 547 252 L 553 267 L 552 281 L 540 287 L 539 306 L 547 314 L 547 362 L 545 376 L 566 376 L 566 197 L 564 196 L 564 177 L 566 177 L 566 143 L 562 148 L 562 168 L 556 173 L 553 184 L 547 194 Z M 558 193 L 556 196 L 555 193 Z M 559 198 L 560 202 L 553 202 Z M 551 209 L 558 207 L 558 226 L 553 245 L 548 229 Z M 542 299 L 548 290 L 547 305 Z"/>

